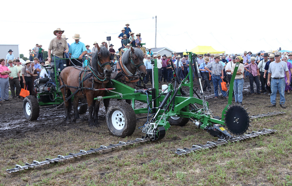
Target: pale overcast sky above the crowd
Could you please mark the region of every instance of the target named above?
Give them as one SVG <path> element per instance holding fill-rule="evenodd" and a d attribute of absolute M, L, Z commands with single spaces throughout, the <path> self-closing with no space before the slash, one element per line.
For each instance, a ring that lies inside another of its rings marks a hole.
<path fill-rule="evenodd" d="M 291 0 L 14 0 L 1 5 L 0 44 L 19 44 L 26 57 L 36 44 L 47 51 L 56 28 L 65 31 L 69 44 L 80 34 L 90 49 L 111 36 L 117 51 L 126 23 L 135 35 L 141 33 L 146 48 L 154 48 L 155 16 L 156 46 L 177 52 L 198 45 L 226 53 L 292 50 Z"/>

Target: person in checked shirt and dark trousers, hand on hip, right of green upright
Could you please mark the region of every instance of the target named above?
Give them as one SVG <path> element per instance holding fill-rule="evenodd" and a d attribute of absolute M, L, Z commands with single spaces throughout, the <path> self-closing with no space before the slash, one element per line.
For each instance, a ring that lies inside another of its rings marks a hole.
<path fill-rule="evenodd" d="M 256 58 L 255 57 L 251 57 L 251 63 L 248 65 L 245 65 L 244 68 L 249 72 L 249 80 L 250 80 L 250 93 L 254 94 L 255 90 L 254 90 L 254 82 L 256 83 L 256 93 L 260 94 L 259 91 L 259 81 L 258 81 L 258 77 L 259 74 L 259 69 L 255 63 Z"/>

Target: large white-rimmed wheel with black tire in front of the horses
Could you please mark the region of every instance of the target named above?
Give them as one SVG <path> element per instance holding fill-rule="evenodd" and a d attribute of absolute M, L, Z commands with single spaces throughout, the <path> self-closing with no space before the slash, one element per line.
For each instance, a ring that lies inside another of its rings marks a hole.
<path fill-rule="evenodd" d="M 136 129 L 136 115 L 125 101 L 117 101 L 107 112 L 107 124 L 112 135 L 126 137 Z"/>

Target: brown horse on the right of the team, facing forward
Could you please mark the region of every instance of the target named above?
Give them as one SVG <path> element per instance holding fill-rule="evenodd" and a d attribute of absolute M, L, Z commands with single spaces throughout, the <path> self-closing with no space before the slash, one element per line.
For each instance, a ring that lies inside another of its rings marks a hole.
<path fill-rule="evenodd" d="M 114 72 L 111 74 L 111 79 L 115 79 L 125 85 L 135 88 L 141 77 L 145 77 L 146 68 L 143 62 L 144 52 L 141 49 L 127 50 L 123 53 L 119 62 L 116 63 Z M 109 105 L 109 100 L 104 100 L 105 106 Z M 126 100 L 131 104 L 131 100 Z"/>

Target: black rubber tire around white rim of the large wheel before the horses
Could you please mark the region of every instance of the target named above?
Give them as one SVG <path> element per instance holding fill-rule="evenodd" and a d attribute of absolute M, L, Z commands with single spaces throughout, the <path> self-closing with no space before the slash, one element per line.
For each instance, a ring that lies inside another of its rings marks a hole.
<path fill-rule="evenodd" d="M 115 111 L 119 111 L 125 120 L 121 130 L 116 129 L 112 124 L 112 116 Z M 136 129 L 136 115 L 133 108 L 125 101 L 117 101 L 111 105 L 107 111 L 107 125 L 110 133 L 119 137 L 132 135 Z"/>

